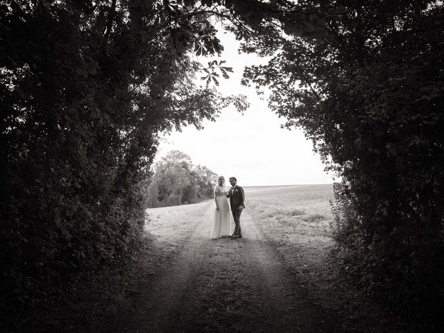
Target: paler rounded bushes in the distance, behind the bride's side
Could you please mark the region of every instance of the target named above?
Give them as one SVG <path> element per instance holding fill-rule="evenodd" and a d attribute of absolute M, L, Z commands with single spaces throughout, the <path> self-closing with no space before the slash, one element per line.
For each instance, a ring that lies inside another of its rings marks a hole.
<path fill-rule="evenodd" d="M 148 187 L 148 207 L 184 205 L 212 198 L 216 179 L 216 173 L 194 165 L 187 154 L 170 151 L 155 165 Z"/>

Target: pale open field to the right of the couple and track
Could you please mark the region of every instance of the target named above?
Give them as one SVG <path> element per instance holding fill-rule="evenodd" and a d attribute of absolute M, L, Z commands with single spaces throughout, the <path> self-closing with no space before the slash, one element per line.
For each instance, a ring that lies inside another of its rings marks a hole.
<path fill-rule="evenodd" d="M 332 185 L 246 187 L 245 191 L 248 214 L 282 259 L 305 277 L 313 273 L 305 279 L 306 284 L 315 285 L 319 274 L 331 273 L 325 267 L 334 246 L 330 231 Z"/>

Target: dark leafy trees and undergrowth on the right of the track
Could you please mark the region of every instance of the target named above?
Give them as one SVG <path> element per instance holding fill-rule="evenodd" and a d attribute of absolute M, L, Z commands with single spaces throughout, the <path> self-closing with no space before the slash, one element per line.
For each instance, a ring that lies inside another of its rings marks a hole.
<path fill-rule="evenodd" d="M 350 275 L 433 327 L 444 305 L 443 4 L 281 3 L 244 44 L 271 57 L 244 83 L 271 89 L 271 108 L 341 176 L 335 234 Z"/>

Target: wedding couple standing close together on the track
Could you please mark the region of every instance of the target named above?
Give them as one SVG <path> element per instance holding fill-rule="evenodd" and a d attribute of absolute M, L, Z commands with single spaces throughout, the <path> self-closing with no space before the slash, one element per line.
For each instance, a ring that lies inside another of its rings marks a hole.
<path fill-rule="evenodd" d="M 211 228 L 211 238 L 221 238 L 230 236 L 231 238 L 242 238 L 241 234 L 241 213 L 245 208 L 244 189 L 237 185 L 236 177 L 230 177 L 231 188 L 225 187 L 225 178 L 220 176 L 218 185 L 214 187 L 214 200 L 216 210 Z M 228 205 L 230 198 L 230 206 Z M 230 207 L 234 219 L 234 232 L 230 235 Z"/>

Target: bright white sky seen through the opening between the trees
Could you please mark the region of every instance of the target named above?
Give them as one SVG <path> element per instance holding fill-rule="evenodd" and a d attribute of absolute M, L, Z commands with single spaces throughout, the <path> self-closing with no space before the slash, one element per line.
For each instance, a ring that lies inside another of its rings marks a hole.
<path fill-rule="evenodd" d="M 284 119 L 268 109 L 253 87 L 241 86 L 247 65 L 264 62 L 255 55 L 237 53 L 239 42 L 230 33 L 219 33 L 225 48 L 221 58 L 233 67 L 229 79 L 219 78 L 222 94 L 245 94 L 250 108 L 241 113 L 232 105 L 225 108 L 216 122 L 204 121 L 203 130 L 194 126 L 166 135 L 156 160 L 169 151 L 178 150 L 191 157 L 193 164 L 203 165 L 218 175 L 235 176 L 241 186 L 302 185 L 332 183 L 321 159 L 312 151 L 311 142 L 302 130 L 280 128 Z M 207 59 L 199 58 L 204 64 Z M 202 81 L 204 84 L 204 81 Z"/>

